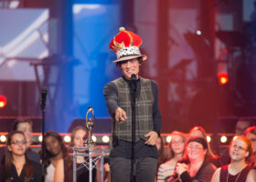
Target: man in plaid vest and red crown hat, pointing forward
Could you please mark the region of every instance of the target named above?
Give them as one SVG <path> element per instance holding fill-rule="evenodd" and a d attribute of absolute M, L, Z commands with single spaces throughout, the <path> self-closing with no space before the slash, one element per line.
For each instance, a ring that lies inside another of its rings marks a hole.
<path fill-rule="evenodd" d="M 154 181 L 160 136 L 161 115 L 158 88 L 154 81 L 139 76 L 146 59 L 140 53 L 142 39 L 120 28 L 110 48 L 116 53 L 113 61 L 123 76 L 104 87 L 103 93 L 112 116 L 111 180 Z M 131 171 L 134 171 L 133 175 Z"/>

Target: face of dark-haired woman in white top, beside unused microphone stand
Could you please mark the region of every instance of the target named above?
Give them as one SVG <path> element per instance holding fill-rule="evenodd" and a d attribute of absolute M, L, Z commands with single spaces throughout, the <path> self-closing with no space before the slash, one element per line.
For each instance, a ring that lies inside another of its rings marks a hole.
<path fill-rule="evenodd" d="M 61 152 L 59 140 L 54 136 L 48 136 L 46 139 L 46 148 L 52 156 L 58 156 Z"/>

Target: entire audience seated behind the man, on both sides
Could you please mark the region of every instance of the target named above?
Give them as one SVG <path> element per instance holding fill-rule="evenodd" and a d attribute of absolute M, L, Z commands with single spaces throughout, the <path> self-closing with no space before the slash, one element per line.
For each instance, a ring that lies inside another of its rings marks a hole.
<path fill-rule="evenodd" d="M 236 128 L 239 132 L 231 140 L 229 149 L 224 149 L 219 155 L 213 154 L 207 134 L 200 126 L 193 127 L 188 134 L 172 132 L 167 148 L 160 136 L 155 144 L 159 154 L 155 181 L 256 181 L 256 126 L 247 124 L 245 125 L 245 121 L 237 122 Z M 73 181 L 72 148 L 84 146 L 86 128 L 77 126 L 73 129 L 69 147 L 59 133 L 48 131 L 44 140 L 43 170 L 41 153 L 29 147 L 32 144 L 32 125 L 29 119 L 19 119 L 14 123 L 5 147 L 0 148 L 0 182 L 42 181 L 43 176 L 46 182 Z M 84 160 L 85 157 L 77 157 L 77 181 L 89 181 L 89 170 L 82 167 Z M 100 180 L 100 170 L 94 168 L 92 181 Z M 105 181 L 111 181 L 110 177 L 105 178 Z"/>

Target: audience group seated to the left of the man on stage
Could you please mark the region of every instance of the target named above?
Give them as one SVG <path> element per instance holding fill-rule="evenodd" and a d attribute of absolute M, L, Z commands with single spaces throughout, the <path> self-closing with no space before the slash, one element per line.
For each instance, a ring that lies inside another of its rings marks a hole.
<path fill-rule="evenodd" d="M 73 181 L 71 150 L 73 147 L 84 147 L 86 128 L 77 126 L 73 129 L 69 146 L 58 132 L 48 131 L 44 136 L 44 152 L 37 153 L 29 147 L 32 144 L 32 125 L 29 119 L 16 120 L 5 147 L 0 147 L 0 182 Z M 78 152 L 84 153 L 85 150 Z M 83 166 L 83 162 L 87 160 L 84 156 L 77 157 L 78 182 L 89 181 L 89 170 Z M 100 181 L 100 170 L 92 170 L 92 181 Z"/>

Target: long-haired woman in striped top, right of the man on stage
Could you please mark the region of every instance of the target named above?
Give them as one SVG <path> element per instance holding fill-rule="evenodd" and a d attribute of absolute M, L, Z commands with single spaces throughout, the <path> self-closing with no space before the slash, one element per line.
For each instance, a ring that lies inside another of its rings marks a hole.
<path fill-rule="evenodd" d="M 165 182 L 165 179 L 170 177 L 176 168 L 176 162 L 183 157 L 185 144 L 186 144 L 186 136 L 178 131 L 174 131 L 171 134 L 171 141 L 169 143 L 169 157 L 168 161 L 164 164 L 160 165 L 157 172 L 157 182 Z"/>

